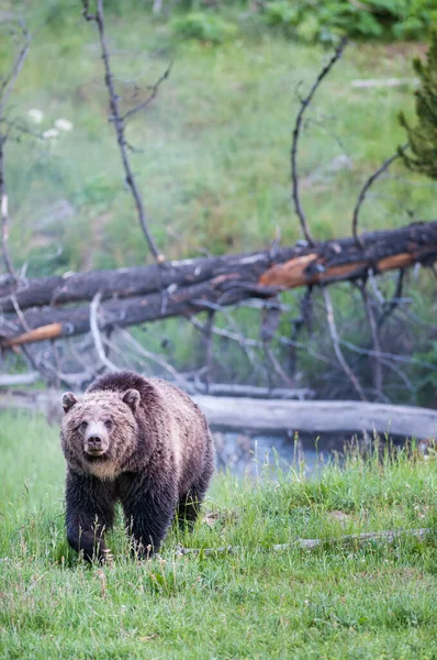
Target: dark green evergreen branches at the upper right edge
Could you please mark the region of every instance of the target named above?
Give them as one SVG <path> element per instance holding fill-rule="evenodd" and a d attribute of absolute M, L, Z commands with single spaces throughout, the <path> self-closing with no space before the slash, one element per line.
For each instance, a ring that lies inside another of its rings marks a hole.
<path fill-rule="evenodd" d="M 410 169 L 437 179 L 437 32 L 432 35 L 426 63 L 414 59 L 414 69 L 419 78 L 415 92 L 417 124 L 411 127 L 405 114 L 400 113 L 413 156 L 402 150 L 401 155 Z"/>

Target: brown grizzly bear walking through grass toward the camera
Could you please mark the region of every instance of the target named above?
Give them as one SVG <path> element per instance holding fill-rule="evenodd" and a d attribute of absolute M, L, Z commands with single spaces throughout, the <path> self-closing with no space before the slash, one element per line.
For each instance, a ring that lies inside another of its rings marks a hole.
<path fill-rule="evenodd" d="M 64 394 L 67 539 L 85 559 L 110 557 L 104 532 L 121 502 L 133 551 L 156 551 L 177 513 L 192 524 L 214 470 L 206 420 L 175 385 L 133 372 Z"/>

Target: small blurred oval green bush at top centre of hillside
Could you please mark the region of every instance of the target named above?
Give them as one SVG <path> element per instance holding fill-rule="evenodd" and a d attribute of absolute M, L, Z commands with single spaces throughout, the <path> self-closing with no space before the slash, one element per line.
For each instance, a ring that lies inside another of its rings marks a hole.
<path fill-rule="evenodd" d="M 236 25 L 221 16 L 208 12 L 190 12 L 173 19 L 171 29 L 176 36 L 197 38 L 210 44 L 221 44 L 235 36 Z"/>

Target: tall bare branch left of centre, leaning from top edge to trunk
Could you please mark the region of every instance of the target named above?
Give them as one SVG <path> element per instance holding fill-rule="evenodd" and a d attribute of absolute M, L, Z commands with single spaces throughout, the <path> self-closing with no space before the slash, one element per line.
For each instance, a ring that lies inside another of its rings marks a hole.
<path fill-rule="evenodd" d="M 100 47 L 101 47 L 101 53 L 102 53 L 103 66 L 104 66 L 104 84 L 107 86 L 108 94 L 110 97 L 110 109 L 111 109 L 110 120 L 114 124 L 116 141 L 119 143 L 120 154 L 122 157 L 122 163 L 123 163 L 124 172 L 126 175 L 126 184 L 130 187 L 132 196 L 134 198 L 139 224 L 142 227 L 142 230 L 143 230 L 143 233 L 147 241 L 147 244 L 149 246 L 149 250 L 150 250 L 152 254 L 154 255 L 154 257 L 156 258 L 156 261 L 159 264 L 161 264 L 166 261 L 166 258 L 165 258 L 164 254 L 161 254 L 159 252 L 159 250 L 154 241 L 154 238 L 152 237 L 152 233 L 148 229 L 148 222 L 147 222 L 147 218 L 146 218 L 146 211 L 144 208 L 143 198 L 142 198 L 138 187 L 136 185 L 135 177 L 134 177 L 134 174 L 133 174 L 133 170 L 131 167 L 131 163 L 130 163 L 130 160 L 127 156 L 128 147 L 127 147 L 127 143 L 126 143 L 126 140 L 124 136 L 124 128 L 125 128 L 124 119 L 126 116 L 123 117 L 120 112 L 120 108 L 119 108 L 120 97 L 117 96 L 117 94 L 115 91 L 114 77 L 113 77 L 113 74 L 111 70 L 110 55 L 109 55 L 107 37 L 105 37 L 105 33 L 104 33 L 103 0 L 97 0 L 96 13 L 90 13 L 89 0 L 82 0 L 82 6 L 83 6 L 83 12 L 82 12 L 83 16 L 86 18 L 87 21 L 93 21 L 97 24 L 98 32 L 99 32 Z"/>

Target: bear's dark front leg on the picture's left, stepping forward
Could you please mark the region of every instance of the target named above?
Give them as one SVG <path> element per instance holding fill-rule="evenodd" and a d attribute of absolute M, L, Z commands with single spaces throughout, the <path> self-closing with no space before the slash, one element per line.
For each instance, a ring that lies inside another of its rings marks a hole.
<path fill-rule="evenodd" d="M 114 496 L 111 482 L 91 475 L 67 474 L 67 540 L 74 550 L 83 552 L 87 561 L 104 561 L 109 550 L 104 532 L 113 525 Z"/>

